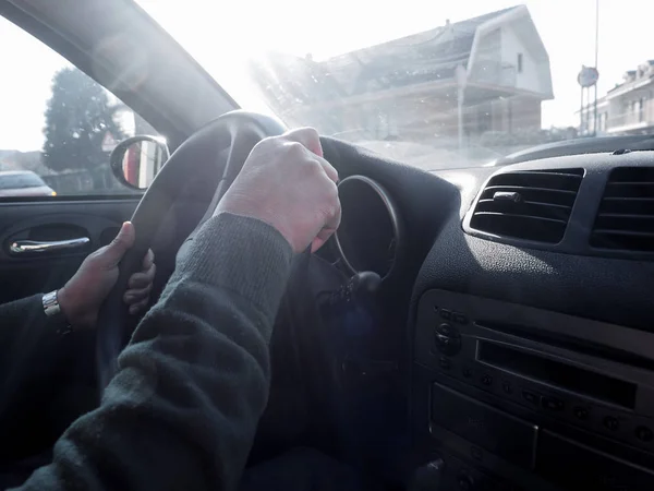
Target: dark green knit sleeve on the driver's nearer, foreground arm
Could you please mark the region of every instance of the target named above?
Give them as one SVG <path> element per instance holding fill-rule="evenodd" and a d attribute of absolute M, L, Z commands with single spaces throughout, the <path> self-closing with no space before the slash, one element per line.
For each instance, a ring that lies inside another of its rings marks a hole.
<path fill-rule="evenodd" d="M 185 258 L 100 407 L 20 489 L 237 489 L 267 402 L 268 342 L 292 251 L 263 221 L 221 214 Z"/>

